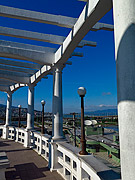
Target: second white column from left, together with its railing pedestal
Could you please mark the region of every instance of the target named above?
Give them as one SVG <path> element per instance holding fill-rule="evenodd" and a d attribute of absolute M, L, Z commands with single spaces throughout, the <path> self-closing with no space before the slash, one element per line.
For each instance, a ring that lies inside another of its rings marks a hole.
<path fill-rule="evenodd" d="M 24 146 L 31 146 L 30 131 L 34 128 L 34 86 L 30 85 L 28 88 L 28 113 L 27 113 L 27 127 L 25 131 Z"/>

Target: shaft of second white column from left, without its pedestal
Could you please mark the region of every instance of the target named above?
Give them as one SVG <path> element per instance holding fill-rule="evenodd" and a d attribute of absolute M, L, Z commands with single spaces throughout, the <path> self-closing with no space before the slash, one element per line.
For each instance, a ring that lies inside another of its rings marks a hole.
<path fill-rule="evenodd" d="M 34 128 L 34 86 L 28 89 L 27 130 Z"/>

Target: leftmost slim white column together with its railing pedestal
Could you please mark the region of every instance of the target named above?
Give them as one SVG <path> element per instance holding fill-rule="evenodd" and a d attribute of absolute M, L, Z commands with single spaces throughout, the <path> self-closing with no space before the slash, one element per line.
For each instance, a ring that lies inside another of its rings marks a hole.
<path fill-rule="evenodd" d="M 7 93 L 6 124 L 3 128 L 3 138 L 8 138 L 8 126 L 11 124 L 12 93 Z"/>

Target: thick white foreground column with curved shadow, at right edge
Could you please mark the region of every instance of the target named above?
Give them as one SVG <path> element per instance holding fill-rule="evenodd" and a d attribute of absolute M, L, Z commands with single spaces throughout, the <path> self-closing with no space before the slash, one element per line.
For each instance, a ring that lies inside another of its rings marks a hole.
<path fill-rule="evenodd" d="M 135 179 L 135 0 L 114 5 L 122 180 Z"/>

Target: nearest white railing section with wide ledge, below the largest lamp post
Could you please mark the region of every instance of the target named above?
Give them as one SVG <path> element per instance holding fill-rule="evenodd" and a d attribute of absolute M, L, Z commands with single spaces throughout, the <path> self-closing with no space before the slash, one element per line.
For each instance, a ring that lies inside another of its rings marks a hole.
<path fill-rule="evenodd" d="M 79 148 L 66 142 L 56 143 L 57 172 L 66 180 L 120 180 L 115 173 L 93 155 L 79 155 Z"/>

